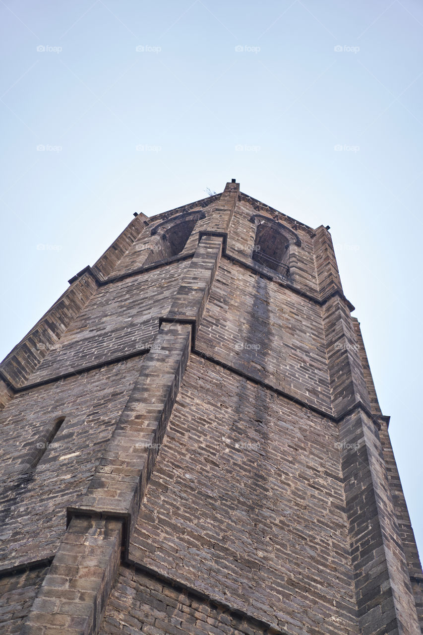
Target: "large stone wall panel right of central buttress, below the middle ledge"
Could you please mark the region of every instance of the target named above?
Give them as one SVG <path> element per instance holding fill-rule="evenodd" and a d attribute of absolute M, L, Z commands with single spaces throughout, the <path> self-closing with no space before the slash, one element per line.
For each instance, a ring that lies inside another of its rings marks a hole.
<path fill-rule="evenodd" d="M 130 558 L 288 633 L 356 634 L 337 438 L 191 358 Z"/>

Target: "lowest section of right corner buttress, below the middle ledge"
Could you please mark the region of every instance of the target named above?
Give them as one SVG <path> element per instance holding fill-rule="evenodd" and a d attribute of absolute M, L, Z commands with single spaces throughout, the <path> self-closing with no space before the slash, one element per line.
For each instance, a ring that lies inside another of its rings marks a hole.
<path fill-rule="evenodd" d="M 377 427 L 356 411 L 339 441 L 360 634 L 420 635 Z"/>

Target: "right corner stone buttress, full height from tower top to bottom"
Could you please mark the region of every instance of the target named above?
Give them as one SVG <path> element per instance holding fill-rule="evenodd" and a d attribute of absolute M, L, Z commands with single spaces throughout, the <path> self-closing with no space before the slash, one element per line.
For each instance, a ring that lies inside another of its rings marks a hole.
<path fill-rule="evenodd" d="M 363 342 L 343 297 L 330 234 L 316 230 L 315 260 L 322 307 L 332 408 L 346 496 L 360 635 L 420 633 L 410 578 L 394 514 L 377 420 L 380 413 Z M 369 393 L 370 391 L 370 393 Z M 360 407 L 361 406 L 361 407 Z M 349 411 L 351 410 L 351 414 Z M 345 415 L 345 416 L 344 416 Z"/>

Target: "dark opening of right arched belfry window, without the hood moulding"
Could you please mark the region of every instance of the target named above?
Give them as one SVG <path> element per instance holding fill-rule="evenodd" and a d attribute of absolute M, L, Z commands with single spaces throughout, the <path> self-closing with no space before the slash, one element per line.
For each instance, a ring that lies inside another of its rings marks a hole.
<path fill-rule="evenodd" d="M 268 269 L 288 275 L 290 239 L 274 224 L 265 222 L 257 227 L 253 260 Z"/>

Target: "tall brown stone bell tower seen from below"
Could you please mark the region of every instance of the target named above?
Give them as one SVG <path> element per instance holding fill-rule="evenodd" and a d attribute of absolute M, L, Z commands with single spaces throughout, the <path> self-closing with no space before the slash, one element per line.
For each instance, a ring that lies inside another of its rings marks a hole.
<path fill-rule="evenodd" d="M 69 282 L 0 366 L 0 633 L 418 635 L 328 229 L 232 180 Z"/>

